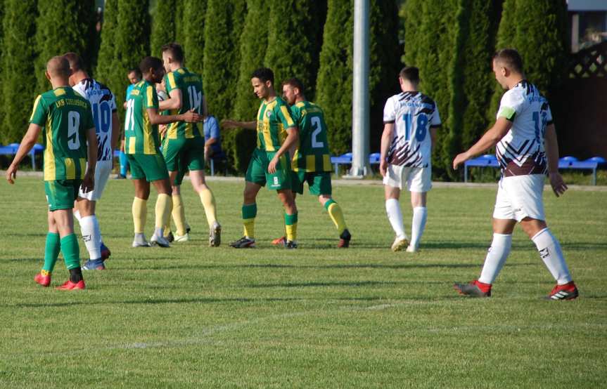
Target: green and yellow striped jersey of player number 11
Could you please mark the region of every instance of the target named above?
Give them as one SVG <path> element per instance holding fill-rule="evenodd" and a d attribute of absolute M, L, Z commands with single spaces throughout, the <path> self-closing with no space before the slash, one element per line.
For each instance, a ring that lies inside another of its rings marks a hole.
<path fill-rule="evenodd" d="M 124 119 L 124 152 L 127 154 L 160 154 L 158 125 L 151 124 L 148 108 L 158 110 L 158 95 L 153 84 L 139 81 L 127 101 Z"/>

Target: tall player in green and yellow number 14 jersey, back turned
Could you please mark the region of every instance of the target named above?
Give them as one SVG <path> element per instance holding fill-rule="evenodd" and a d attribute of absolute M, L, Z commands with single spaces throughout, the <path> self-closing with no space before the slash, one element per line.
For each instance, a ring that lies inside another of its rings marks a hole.
<path fill-rule="evenodd" d="M 179 44 L 162 46 L 162 61 L 167 75 L 165 84 L 170 98 L 160 102 L 161 110 L 173 114 L 194 110 L 206 115 L 206 102 L 202 79 L 184 67 L 184 50 Z M 203 203 L 209 225 L 209 246 L 219 246 L 222 227 L 217 221 L 215 196 L 205 181 L 205 137 L 196 123 L 178 121 L 167 127 L 162 141 L 162 154 L 167 161 L 172 185 L 173 220 L 177 231 L 176 242 L 189 239 L 186 226 L 184 202 L 181 199 L 181 181 L 186 171 L 190 172 L 193 189 Z"/>

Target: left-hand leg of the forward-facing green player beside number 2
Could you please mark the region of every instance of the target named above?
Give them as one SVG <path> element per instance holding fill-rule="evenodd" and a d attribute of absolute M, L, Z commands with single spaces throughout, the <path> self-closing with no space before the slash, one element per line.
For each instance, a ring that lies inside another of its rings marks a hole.
<path fill-rule="evenodd" d="M 255 247 L 255 217 L 257 216 L 257 192 L 266 185 L 266 174 L 264 170 L 264 154 L 258 149 L 253 150 L 245 174 L 245 189 L 243 191 L 243 237 L 231 242 L 230 246 L 236 249 Z"/>

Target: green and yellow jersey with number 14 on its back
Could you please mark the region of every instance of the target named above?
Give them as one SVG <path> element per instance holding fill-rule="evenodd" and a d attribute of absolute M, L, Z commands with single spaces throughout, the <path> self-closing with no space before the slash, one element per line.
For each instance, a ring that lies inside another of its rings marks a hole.
<path fill-rule="evenodd" d="M 174 89 L 181 91 L 181 110 L 171 110 L 170 114 L 184 114 L 189 110 L 194 110 L 198 114 L 203 113 L 203 81 L 200 75 L 190 72 L 185 67 L 170 72 L 165 76 L 167 93 Z M 197 138 L 200 137 L 200 130 L 196 123 L 186 123 L 185 121 L 176 121 L 168 124 L 167 138 Z"/>

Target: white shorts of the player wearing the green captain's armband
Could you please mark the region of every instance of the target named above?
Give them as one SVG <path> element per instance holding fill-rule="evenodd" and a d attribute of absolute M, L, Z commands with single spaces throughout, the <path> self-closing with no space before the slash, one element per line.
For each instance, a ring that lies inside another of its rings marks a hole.
<path fill-rule="evenodd" d="M 502 177 L 498 185 L 493 218 L 518 222 L 524 218 L 546 220 L 543 174 Z"/>

